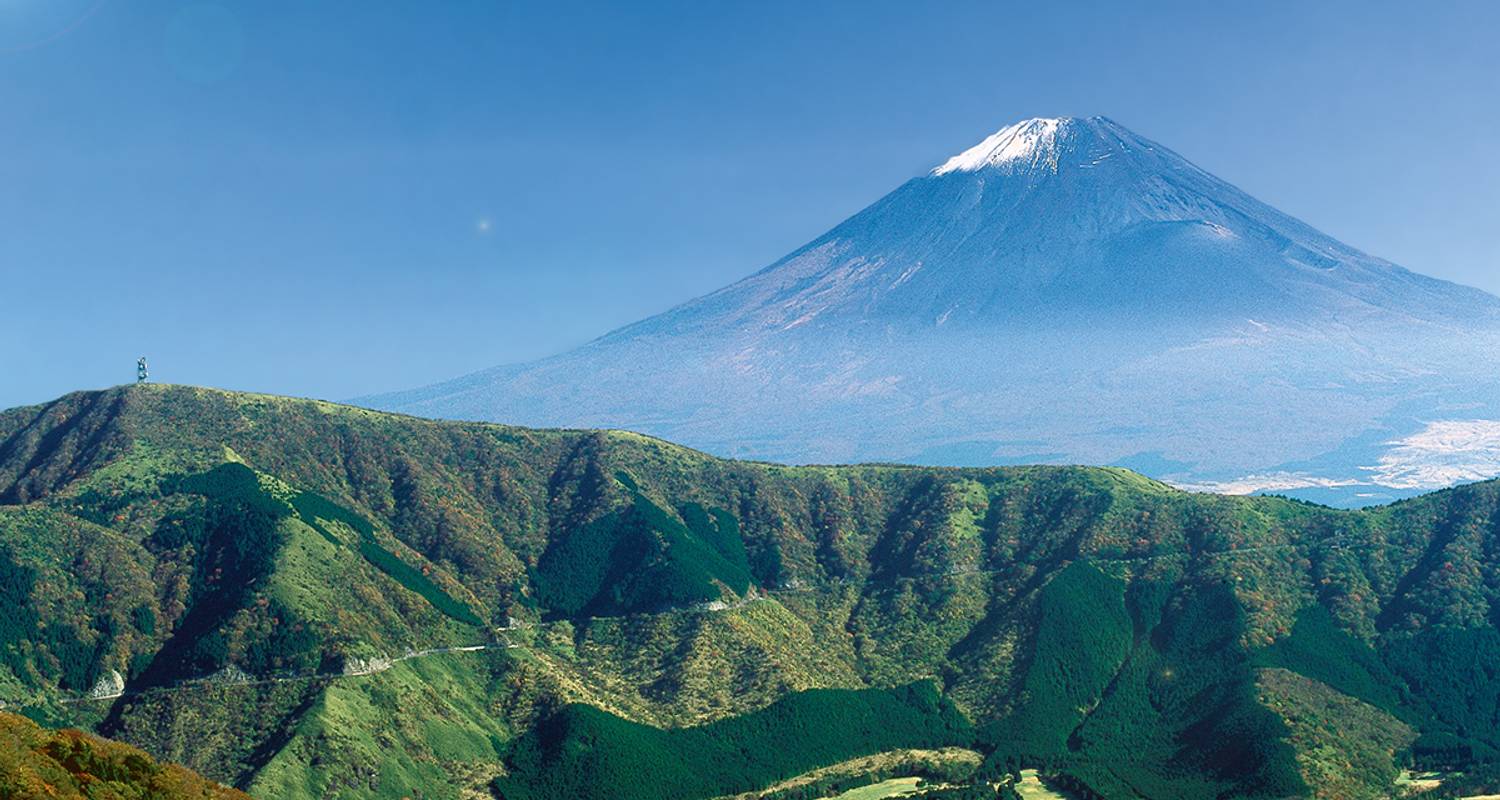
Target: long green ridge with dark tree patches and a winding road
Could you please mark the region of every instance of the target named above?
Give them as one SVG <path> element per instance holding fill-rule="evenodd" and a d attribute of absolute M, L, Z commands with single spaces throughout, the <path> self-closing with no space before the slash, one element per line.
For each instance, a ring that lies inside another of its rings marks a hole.
<path fill-rule="evenodd" d="M 1484 788 L 1497 525 L 132 386 L 0 413 L 0 702 L 278 798 Z"/>

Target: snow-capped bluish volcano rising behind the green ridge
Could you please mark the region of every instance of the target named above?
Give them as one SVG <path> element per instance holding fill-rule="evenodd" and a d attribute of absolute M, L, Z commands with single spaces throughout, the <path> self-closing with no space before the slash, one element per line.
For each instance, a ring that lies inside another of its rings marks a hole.
<path fill-rule="evenodd" d="M 376 408 L 784 462 L 1118 464 L 1364 504 L 1500 474 L 1500 299 L 1104 119 L 1034 119 L 770 267 Z"/>

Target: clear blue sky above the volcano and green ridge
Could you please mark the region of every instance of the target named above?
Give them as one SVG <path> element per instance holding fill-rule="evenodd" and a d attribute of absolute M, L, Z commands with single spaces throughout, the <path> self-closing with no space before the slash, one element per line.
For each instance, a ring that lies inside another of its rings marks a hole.
<path fill-rule="evenodd" d="M 1104 114 L 1500 293 L 1500 3 L 0 0 L 0 407 L 544 356 Z"/>

